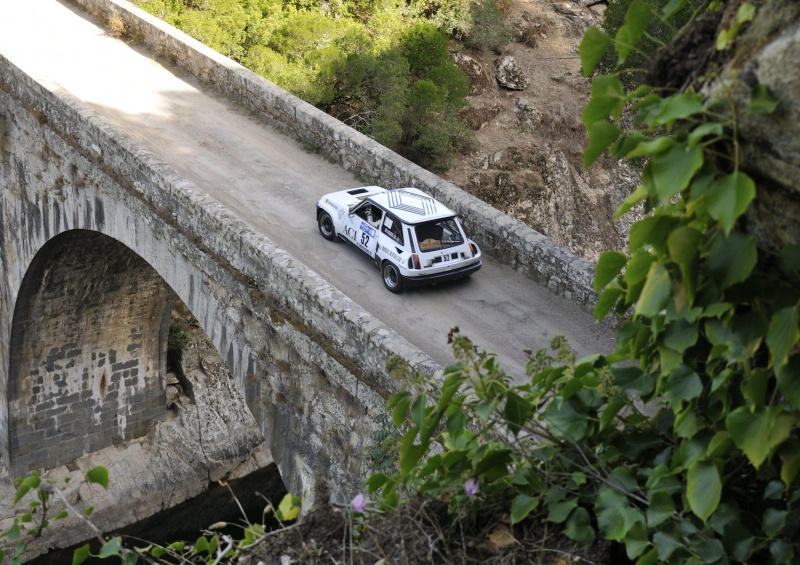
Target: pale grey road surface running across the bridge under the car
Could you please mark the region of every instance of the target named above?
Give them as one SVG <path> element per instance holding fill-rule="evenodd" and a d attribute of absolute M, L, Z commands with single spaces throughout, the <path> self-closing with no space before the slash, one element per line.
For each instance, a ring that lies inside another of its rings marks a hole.
<path fill-rule="evenodd" d="M 591 315 L 485 255 L 468 280 L 389 293 L 372 262 L 317 232 L 319 197 L 362 182 L 72 6 L 0 0 L 0 52 L 70 91 L 442 364 L 452 361 L 455 326 L 519 376 L 524 350 L 555 335 L 581 355 L 612 349 L 612 333 Z"/>

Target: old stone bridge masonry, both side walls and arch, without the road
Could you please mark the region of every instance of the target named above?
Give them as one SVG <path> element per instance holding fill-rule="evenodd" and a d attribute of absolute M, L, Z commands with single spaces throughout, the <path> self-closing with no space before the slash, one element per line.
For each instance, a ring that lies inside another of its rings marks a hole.
<path fill-rule="evenodd" d="M 175 64 L 385 186 L 460 212 L 485 252 L 591 307 L 592 266 L 126 2 L 78 0 Z M 324 148 L 324 149 L 323 149 Z M 0 54 L 0 452 L 51 469 L 165 415 L 170 304 L 230 369 L 287 488 L 343 490 L 395 390 L 384 366 L 428 356 L 58 85 Z"/>

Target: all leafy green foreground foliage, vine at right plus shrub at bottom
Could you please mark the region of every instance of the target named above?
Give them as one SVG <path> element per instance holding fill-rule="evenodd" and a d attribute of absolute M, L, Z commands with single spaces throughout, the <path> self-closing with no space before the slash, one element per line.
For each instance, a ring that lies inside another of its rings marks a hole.
<path fill-rule="evenodd" d="M 721 48 L 752 18 L 743 9 Z M 651 14 L 633 2 L 613 36 L 587 32 L 584 72 L 612 46 L 624 67 L 649 41 Z M 617 214 L 641 203 L 646 215 L 627 252 L 597 266 L 595 315 L 623 317 L 617 350 L 576 360 L 554 343 L 555 356 L 531 357 L 528 381 L 515 386 L 456 337 L 441 383 L 421 380 L 424 392 L 389 401 L 402 434 L 396 467 L 367 486 L 385 508 L 421 492 L 448 500 L 454 515 L 497 504 L 514 523 L 537 514 L 579 543 L 622 542 L 641 565 L 794 563 L 798 246 L 764 248 L 744 229 L 759 187 L 742 169 L 736 111 L 692 91 L 629 92 L 618 73 L 596 76 L 591 90 L 585 164 L 606 152 L 644 162 Z M 757 85 L 748 111 L 778 104 Z"/>

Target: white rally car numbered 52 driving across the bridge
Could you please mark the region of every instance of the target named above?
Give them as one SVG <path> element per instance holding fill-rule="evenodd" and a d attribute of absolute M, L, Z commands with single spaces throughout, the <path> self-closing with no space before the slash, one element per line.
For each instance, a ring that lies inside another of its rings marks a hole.
<path fill-rule="evenodd" d="M 317 225 L 325 239 L 339 237 L 375 261 L 391 292 L 468 277 L 482 264 L 453 211 L 416 188 L 326 194 L 317 202 Z"/>

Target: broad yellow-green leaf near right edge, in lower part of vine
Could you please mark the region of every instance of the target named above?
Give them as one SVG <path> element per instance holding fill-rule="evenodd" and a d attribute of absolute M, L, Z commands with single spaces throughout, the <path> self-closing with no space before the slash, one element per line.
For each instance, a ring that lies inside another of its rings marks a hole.
<path fill-rule="evenodd" d="M 789 438 L 796 421 L 796 416 L 783 411 L 780 406 L 754 411 L 740 406 L 728 414 L 725 425 L 736 447 L 758 468 L 775 448 Z"/>

